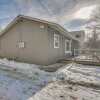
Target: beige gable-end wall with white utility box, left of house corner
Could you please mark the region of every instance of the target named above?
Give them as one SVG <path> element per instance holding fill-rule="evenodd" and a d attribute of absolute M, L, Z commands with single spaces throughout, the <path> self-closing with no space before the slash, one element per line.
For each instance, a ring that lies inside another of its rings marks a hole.
<path fill-rule="evenodd" d="M 44 25 L 44 28 L 40 28 Z M 18 43 L 25 42 L 25 48 Z M 0 39 L 0 55 L 22 62 L 47 64 L 47 25 L 22 19 Z"/>

